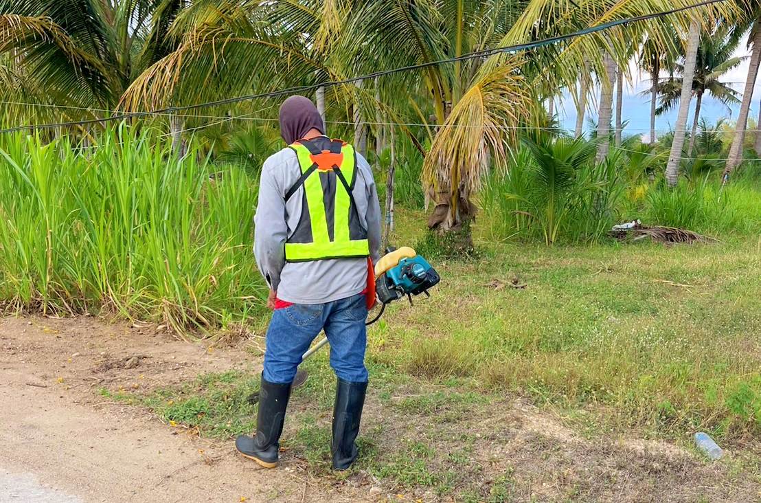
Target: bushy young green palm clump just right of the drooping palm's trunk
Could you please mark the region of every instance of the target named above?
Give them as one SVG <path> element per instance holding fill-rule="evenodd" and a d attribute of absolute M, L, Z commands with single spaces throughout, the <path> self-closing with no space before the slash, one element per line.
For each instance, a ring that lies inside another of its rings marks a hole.
<path fill-rule="evenodd" d="M 526 139 L 506 170 L 493 172 L 482 190 L 489 237 L 548 245 L 602 237 L 616 219 L 625 186 L 618 158 L 595 164 L 594 155 L 594 143 L 583 139 Z"/>

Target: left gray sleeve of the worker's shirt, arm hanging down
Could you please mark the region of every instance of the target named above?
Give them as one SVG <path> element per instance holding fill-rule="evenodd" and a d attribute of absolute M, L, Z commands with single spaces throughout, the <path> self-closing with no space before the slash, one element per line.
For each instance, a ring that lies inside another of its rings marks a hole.
<path fill-rule="evenodd" d="M 277 291 L 285 266 L 288 225 L 285 221 L 285 198 L 274 170 L 275 166 L 269 160 L 262 167 L 259 201 L 253 220 L 253 253 L 269 288 Z"/>

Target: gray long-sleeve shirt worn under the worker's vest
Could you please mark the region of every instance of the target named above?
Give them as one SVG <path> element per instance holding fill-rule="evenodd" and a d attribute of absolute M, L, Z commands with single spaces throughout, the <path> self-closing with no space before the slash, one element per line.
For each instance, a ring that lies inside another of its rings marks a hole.
<path fill-rule="evenodd" d="M 360 154 L 357 154 L 357 168 L 352 192 L 361 224 L 368 230 L 370 253 L 376 263 L 380 258 L 380 203 L 373 171 Z M 269 288 L 277 291 L 280 300 L 294 304 L 323 304 L 361 293 L 367 286 L 367 259 L 285 262 L 285 240 L 301 218 L 304 187 L 288 202 L 285 202 L 285 193 L 300 176 L 301 167 L 290 148 L 270 156 L 262 167 L 253 238 L 260 272 Z"/>

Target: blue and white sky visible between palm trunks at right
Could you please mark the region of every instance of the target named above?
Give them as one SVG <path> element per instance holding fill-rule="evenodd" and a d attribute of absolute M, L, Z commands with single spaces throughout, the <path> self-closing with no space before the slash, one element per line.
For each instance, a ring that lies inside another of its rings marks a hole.
<path fill-rule="evenodd" d="M 745 44 L 740 46 L 734 56 L 750 56 Z M 722 81 L 732 85 L 732 87 L 742 94 L 745 88 L 745 81 L 748 76 L 749 60 L 745 59 L 743 63 L 724 75 Z M 629 121 L 628 126 L 624 129 L 624 135 L 643 135 L 643 139 L 647 141 L 650 137 L 650 96 L 642 96 L 642 91 L 647 91 L 650 88 L 650 75 L 647 73 L 639 72 L 637 65 L 634 61 L 629 64 L 630 73 L 633 76 L 634 82 L 625 82 L 623 90 L 622 100 L 622 119 L 626 123 Z M 667 76 L 667 75 L 662 75 Z M 599 90 L 595 91 L 599 96 Z M 758 118 L 759 113 L 759 100 L 761 100 L 761 79 L 756 81 L 756 88 L 753 92 L 753 102 L 750 107 L 750 117 Z M 559 110 L 556 113 L 562 123 L 564 129 L 575 129 L 576 125 L 576 107 L 570 95 L 566 94 L 562 99 L 558 100 L 557 106 Z M 614 105 L 615 107 L 615 105 Z M 739 106 L 729 109 L 724 104 L 714 100 L 712 97 L 703 97 L 702 108 L 700 116 L 705 118 L 708 123 L 715 123 L 718 119 L 736 120 L 737 111 Z M 615 110 L 615 108 L 613 109 Z M 695 100 L 692 100 L 689 118 L 687 119 L 688 128 L 693 124 L 693 112 L 695 110 Z M 673 107 L 668 113 L 664 113 L 655 119 L 655 129 L 658 133 L 667 132 L 673 128 L 674 123 L 677 122 L 677 113 L 679 107 Z M 597 99 L 594 103 L 587 103 L 587 119 L 584 123 L 584 129 L 590 129 L 589 119 L 597 120 Z"/>

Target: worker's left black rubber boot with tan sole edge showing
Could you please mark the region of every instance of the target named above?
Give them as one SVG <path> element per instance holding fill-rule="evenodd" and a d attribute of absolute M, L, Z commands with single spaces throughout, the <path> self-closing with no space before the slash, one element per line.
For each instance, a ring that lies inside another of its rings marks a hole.
<path fill-rule="evenodd" d="M 285 408 L 290 397 L 290 383 L 269 383 L 262 377 L 259 412 L 256 415 L 256 435 L 240 435 L 235 439 L 235 448 L 240 454 L 265 468 L 278 466 L 279 440 L 285 422 Z"/>

